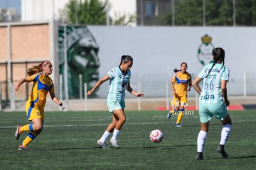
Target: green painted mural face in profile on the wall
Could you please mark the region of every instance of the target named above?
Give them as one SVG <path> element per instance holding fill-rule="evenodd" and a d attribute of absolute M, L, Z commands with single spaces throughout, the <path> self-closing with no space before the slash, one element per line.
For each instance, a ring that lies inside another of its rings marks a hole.
<path fill-rule="evenodd" d="M 85 83 L 87 83 L 87 89 L 91 89 L 99 79 L 98 44 L 87 27 L 69 26 L 67 28 L 67 48 L 62 48 L 67 49 L 69 98 L 79 98 L 80 95 L 84 96 Z M 62 60 L 60 55 L 60 62 Z M 64 65 L 64 62 L 60 64 L 60 70 L 64 74 L 62 65 Z M 80 94 L 79 90 L 80 80 L 82 80 L 83 94 Z M 95 95 L 92 97 L 95 97 Z"/>

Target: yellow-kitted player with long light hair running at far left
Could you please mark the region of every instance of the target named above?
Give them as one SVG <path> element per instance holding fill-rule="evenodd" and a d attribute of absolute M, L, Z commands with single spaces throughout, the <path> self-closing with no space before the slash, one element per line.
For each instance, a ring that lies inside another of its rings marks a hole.
<path fill-rule="evenodd" d="M 43 130 L 43 122 L 45 120 L 44 108 L 48 92 L 51 95 L 51 99 L 59 106 L 62 106 L 62 102 L 59 101 L 54 94 L 53 80 L 49 77 L 52 72 L 53 65 L 51 62 L 41 62 L 37 66 L 28 69 L 28 77 L 19 80 L 14 87 L 15 90 L 19 90 L 20 85 L 23 83 L 33 82 L 32 91 L 25 106 L 28 121 L 31 121 L 32 123 L 27 125 L 17 125 L 15 139 L 18 140 L 22 132 L 30 131 L 30 133 L 23 142 L 20 143 L 18 150 L 27 150 L 27 145 Z"/>

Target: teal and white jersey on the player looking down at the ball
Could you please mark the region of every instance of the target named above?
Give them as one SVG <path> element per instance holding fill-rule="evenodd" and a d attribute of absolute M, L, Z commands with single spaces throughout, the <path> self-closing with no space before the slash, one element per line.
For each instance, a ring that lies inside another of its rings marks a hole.
<path fill-rule="evenodd" d="M 127 83 L 130 81 L 130 70 L 126 75 L 120 67 L 115 67 L 108 72 L 109 88 L 107 101 L 124 101 Z"/>

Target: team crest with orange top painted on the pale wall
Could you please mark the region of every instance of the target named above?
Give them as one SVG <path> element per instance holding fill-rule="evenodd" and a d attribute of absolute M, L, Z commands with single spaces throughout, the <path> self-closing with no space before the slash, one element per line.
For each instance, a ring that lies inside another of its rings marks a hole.
<path fill-rule="evenodd" d="M 203 66 L 210 64 L 213 62 L 213 55 L 212 51 L 214 49 L 214 46 L 211 44 L 211 37 L 205 34 L 205 36 L 202 36 L 202 44 L 198 48 L 198 60 Z"/>

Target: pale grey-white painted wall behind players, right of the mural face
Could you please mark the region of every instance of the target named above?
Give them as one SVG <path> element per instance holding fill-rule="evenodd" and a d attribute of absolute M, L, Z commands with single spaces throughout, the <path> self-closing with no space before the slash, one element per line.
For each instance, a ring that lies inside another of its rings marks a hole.
<path fill-rule="evenodd" d="M 166 81 L 179 69 L 181 62 L 187 71 L 197 75 L 203 68 L 198 60 L 202 36 L 211 36 L 211 44 L 224 48 L 225 64 L 231 70 L 229 94 L 243 95 L 244 74 L 250 86 L 255 82 L 255 27 L 97 27 L 88 26 L 100 46 L 101 77 L 119 65 L 122 54 L 134 57 L 132 82 L 142 80 L 145 96 L 164 96 Z M 141 74 L 141 75 L 140 75 Z M 247 82 L 248 83 L 248 82 Z M 99 93 L 106 95 L 106 87 Z M 250 94 L 256 94 L 252 88 Z M 189 95 L 195 95 L 193 91 Z"/>

